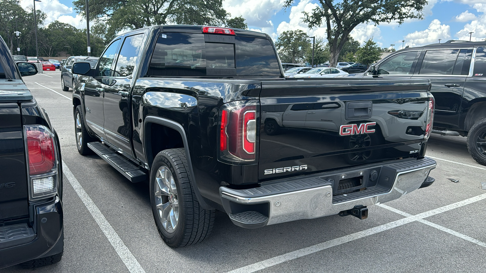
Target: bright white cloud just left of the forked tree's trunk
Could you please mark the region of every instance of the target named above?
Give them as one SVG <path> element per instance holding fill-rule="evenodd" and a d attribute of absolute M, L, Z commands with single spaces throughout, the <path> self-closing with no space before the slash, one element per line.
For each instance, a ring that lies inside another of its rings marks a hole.
<path fill-rule="evenodd" d="M 311 3 L 311 0 L 300 0 L 296 6 L 290 9 L 289 21 L 282 21 L 277 27 L 277 34 L 280 35 L 284 31 L 289 30 L 301 30 L 309 36 L 322 37 L 327 40 L 326 28 L 318 27 L 309 29 L 306 23 L 302 21 L 304 16 L 302 12 L 312 12 L 313 9 L 318 7 L 316 3 Z"/>

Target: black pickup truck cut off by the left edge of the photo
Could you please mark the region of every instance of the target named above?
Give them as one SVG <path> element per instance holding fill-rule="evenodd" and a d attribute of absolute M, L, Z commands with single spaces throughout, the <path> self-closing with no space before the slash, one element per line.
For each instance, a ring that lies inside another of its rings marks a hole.
<path fill-rule="evenodd" d="M 15 63 L 0 37 L 0 269 L 63 255 L 59 138 L 22 80 L 36 73 L 34 64 Z"/>

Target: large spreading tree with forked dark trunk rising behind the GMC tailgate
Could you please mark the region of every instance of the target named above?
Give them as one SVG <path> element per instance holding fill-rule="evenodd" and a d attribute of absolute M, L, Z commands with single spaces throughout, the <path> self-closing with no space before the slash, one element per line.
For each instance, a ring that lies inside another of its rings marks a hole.
<path fill-rule="evenodd" d="M 319 6 L 312 12 L 303 12 L 303 20 L 310 28 L 325 23 L 330 44 L 330 64 L 337 64 L 339 54 L 351 31 L 361 23 L 398 22 L 405 19 L 422 19 L 427 0 L 318 0 Z M 284 7 L 294 0 L 285 0 Z"/>

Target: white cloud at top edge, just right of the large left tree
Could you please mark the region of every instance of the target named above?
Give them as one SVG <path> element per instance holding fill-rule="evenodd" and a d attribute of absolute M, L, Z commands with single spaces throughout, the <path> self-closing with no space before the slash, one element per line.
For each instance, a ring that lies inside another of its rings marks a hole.
<path fill-rule="evenodd" d="M 231 17 L 243 16 L 248 26 L 265 28 L 268 20 L 283 8 L 284 0 L 224 0 Z M 273 32 L 273 29 L 272 29 Z"/>

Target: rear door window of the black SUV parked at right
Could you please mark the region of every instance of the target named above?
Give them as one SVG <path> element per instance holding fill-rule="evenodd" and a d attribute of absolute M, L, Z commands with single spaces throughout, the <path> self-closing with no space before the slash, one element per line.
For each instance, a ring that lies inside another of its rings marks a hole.
<path fill-rule="evenodd" d="M 425 52 L 419 74 L 452 75 L 459 50 L 431 50 Z"/>

